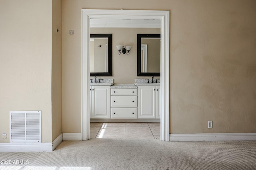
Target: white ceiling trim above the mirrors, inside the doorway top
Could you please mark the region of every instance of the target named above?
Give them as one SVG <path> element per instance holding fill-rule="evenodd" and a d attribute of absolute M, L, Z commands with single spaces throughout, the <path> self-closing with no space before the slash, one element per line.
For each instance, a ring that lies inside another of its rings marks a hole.
<path fill-rule="evenodd" d="M 160 28 L 161 20 L 90 19 L 91 28 Z"/>

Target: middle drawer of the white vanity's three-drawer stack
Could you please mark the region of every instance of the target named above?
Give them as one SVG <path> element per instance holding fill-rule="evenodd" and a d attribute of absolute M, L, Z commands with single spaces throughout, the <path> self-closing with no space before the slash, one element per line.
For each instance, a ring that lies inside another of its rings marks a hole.
<path fill-rule="evenodd" d="M 137 107 L 137 96 L 111 96 L 111 107 Z"/>

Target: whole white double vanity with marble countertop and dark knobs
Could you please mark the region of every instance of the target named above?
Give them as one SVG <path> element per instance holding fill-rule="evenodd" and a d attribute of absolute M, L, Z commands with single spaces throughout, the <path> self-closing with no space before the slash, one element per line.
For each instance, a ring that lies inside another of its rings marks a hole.
<path fill-rule="evenodd" d="M 160 82 L 135 79 L 114 84 L 113 79 L 90 83 L 91 119 L 160 119 Z M 156 83 L 157 82 L 157 83 Z"/>

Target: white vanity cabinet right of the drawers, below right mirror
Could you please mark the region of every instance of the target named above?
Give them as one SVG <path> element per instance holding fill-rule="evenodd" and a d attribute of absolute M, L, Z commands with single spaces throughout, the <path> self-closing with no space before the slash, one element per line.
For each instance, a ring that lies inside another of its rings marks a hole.
<path fill-rule="evenodd" d="M 160 86 L 138 86 L 138 119 L 160 119 Z"/>

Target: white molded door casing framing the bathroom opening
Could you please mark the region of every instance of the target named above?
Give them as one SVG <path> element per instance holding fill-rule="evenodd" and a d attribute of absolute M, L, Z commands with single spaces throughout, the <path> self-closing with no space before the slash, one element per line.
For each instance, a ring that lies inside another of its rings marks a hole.
<path fill-rule="evenodd" d="M 90 19 L 161 21 L 160 139 L 169 141 L 169 32 L 170 12 L 152 10 L 82 9 L 81 24 L 81 140 L 90 139 Z"/>

